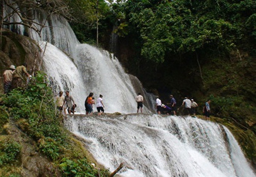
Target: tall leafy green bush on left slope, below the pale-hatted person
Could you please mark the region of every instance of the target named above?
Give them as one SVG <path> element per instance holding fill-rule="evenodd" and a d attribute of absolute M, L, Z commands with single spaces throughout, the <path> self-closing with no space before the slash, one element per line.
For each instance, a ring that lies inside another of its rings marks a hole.
<path fill-rule="evenodd" d="M 61 122 L 56 118 L 55 103 L 52 90 L 48 86 L 46 74 L 38 72 L 36 77 L 30 80 L 26 89 L 12 90 L 8 95 L 2 96 L 3 106 L 1 110 L 9 110 L 14 120 L 20 121 L 20 127 L 35 141 L 44 139 L 39 144 L 39 149 L 53 160 L 59 157 L 59 147 L 66 140 L 66 132 L 61 129 Z M 6 116 L 1 115 L 1 120 Z"/>

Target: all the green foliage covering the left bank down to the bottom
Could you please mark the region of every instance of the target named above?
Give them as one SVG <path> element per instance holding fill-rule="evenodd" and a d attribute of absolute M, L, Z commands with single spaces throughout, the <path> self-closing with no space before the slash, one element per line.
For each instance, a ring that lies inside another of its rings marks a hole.
<path fill-rule="evenodd" d="M 40 72 L 26 89 L 18 88 L 1 95 L 0 166 L 18 160 L 21 152 L 21 145 L 9 139 L 3 129 L 11 120 L 37 142 L 38 150 L 49 157 L 64 176 L 97 176 L 99 173 L 107 176 L 107 171 L 91 166 L 86 157 L 81 156 L 81 150 L 76 149 L 77 145 L 70 141 L 53 98 L 46 74 Z"/>

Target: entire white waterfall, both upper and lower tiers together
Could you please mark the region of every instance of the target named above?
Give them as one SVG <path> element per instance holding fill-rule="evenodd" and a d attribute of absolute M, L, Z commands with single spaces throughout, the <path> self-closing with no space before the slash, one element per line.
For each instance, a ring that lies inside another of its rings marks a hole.
<path fill-rule="evenodd" d="M 104 95 L 107 112 L 136 111 L 136 92 L 113 54 L 79 44 L 63 18 L 52 15 L 45 20 L 43 12 L 35 14 L 37 22 L 48 27 L 42 37 L 32 31 L 29 35 L 55 45 L 48 43 L 45 48 L 46 42 L 42 42 L 41 48 L 45 50 L 44 69 L 56 92 L 70 90 L 79 112 L 83 112 L 89 92 L 95 97 Z M 10 20 L 15 19 L 19 20 L 15 16 Z M 11 29 L 24 33 L 22 26 Z M 120 173 L 126 177 L 255 176 L 229 130 L 197 118 L 75 115 L 65 120 L 65 125 L 86 140 L 94 158 L 110 171 L 125 162 Z"/>

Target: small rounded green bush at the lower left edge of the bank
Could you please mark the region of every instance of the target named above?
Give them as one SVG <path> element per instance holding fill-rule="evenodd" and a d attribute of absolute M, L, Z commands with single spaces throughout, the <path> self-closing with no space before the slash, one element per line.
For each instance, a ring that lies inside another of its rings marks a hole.
<path fill-rule="evenodd" d="M 21 145 L 18 142 L 5 138 L 0 141 L 0 165 L 14 162 L 20 154 Z"/>

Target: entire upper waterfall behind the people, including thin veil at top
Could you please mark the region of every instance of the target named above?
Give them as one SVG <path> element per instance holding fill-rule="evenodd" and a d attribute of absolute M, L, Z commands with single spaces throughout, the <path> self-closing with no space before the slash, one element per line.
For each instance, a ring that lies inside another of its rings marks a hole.
<path fill-rule="evenodd" d="M 16 15 L 18 19 L 18 15 Z M 16 17 L 14 16 L 14 17 Z M 133 113 L 137 111 L 137 96 L 128 74 L 118 59 L 105 50 L 80 44 L 67 20 L 58 15 L 47 16 L 34 11 L 34 21 L 44 24 L 41 34 L 29 29 L 30 38 L 38 41 L 43 56 L 43 68 L 52 83 L 53 91 L 69 90 L 77 104 L 76 112 L 84 113 L 84 101 L 90 92 L 95 100 L 103 95 L 106 112 Z M 40 29 L 40 26 L 34 24 Z M 12 25 L 10 29 L 19 29 Z M 20 29 L 21 35 L 25 29 Z M 47 45 L 46 41 L 48 42 Z M 43 42 L 43 43 L 41 43 Z M 45 47 L 46 46 L 46 47 Z M 94 111 L 95 111 L 94 107 Z M 151 112 L 144 107 L 144 112 Z"/>

